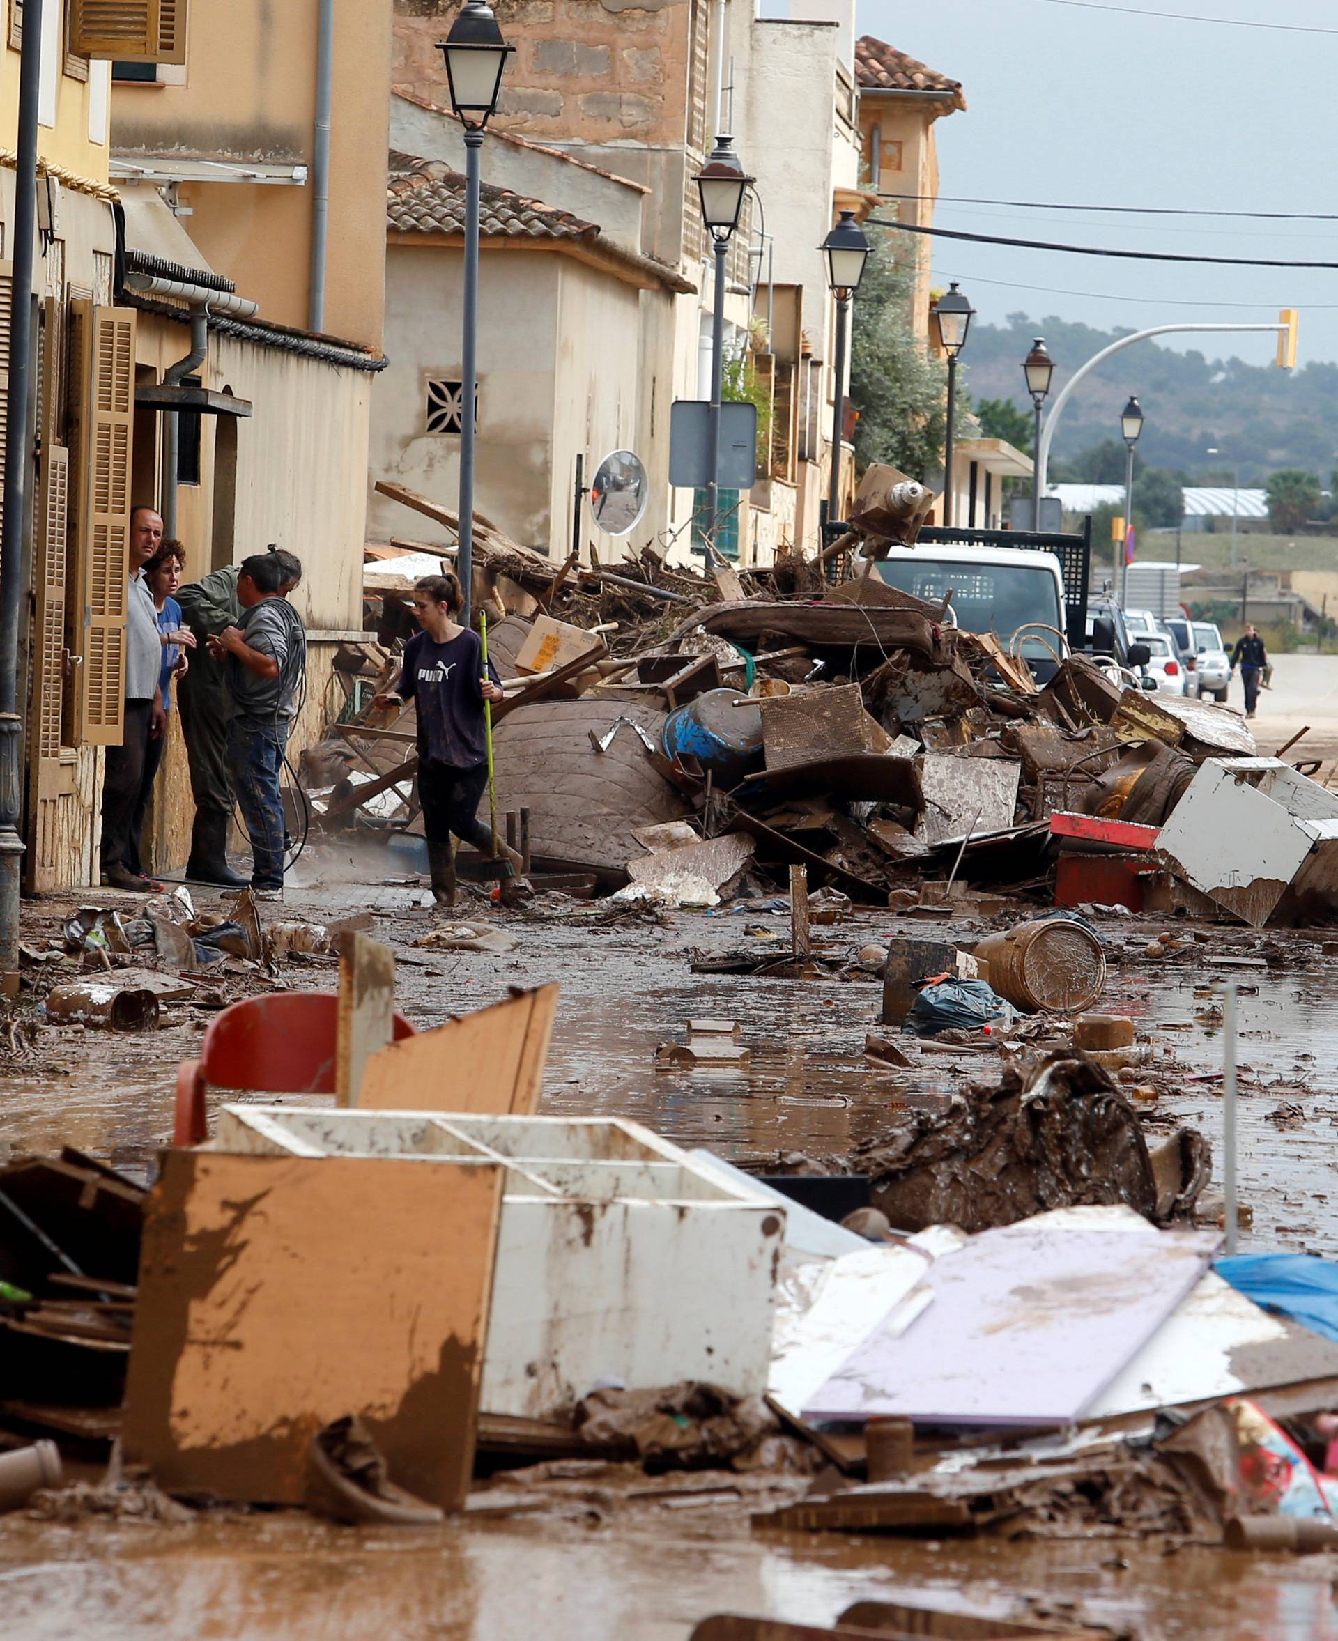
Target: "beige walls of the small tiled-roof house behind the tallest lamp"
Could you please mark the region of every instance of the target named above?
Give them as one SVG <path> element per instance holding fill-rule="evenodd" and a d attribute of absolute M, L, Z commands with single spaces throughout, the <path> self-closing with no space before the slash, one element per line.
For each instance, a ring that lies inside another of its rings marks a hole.
<path fill-rule="evenodd" d="M 392 238 L 386 269 L 391 364 L 374 391 L 371 479 L 399 479 L 455 505 L 460 440 L 425 430 L 425 402 L 430 377 L 460 377 L 461 254 Z M 622 445 L 639 448 L 639 307 L 648 297 L 558 251 L 484 241 L 474 502 L 517 542 L 561 558 L 576 453 L 593 463 Z M 667 417 L 665 407 L 665 438 Z M 450 540 L 374 492 L 368 528 L 378 540 Z"/>

